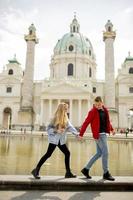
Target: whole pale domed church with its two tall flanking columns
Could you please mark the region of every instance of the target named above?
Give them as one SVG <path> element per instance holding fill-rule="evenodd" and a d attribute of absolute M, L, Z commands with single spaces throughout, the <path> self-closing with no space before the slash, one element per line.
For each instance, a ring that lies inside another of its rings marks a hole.
<path fill-rule="evenodd" d="M 50 77 L 34 81 L 36 29 L 32 24 L 25 35 L 26 64 L 23 72 L 16 57 L 0 73 L 0 128 L 44 129 L 57 105 L 69 104 L 69 118 L 80 127 L 96 96 L 109 109 L 115 128 L 133 128 L 133 57 L 129 54 L 115 78 L 114 41 L 116 33 L 110 20 L 105 25 L 105 80 L 96 78 L 97 64 L 90 40 L 80 32 L 74 16 L 70 31 L 54 48 Z"/>

